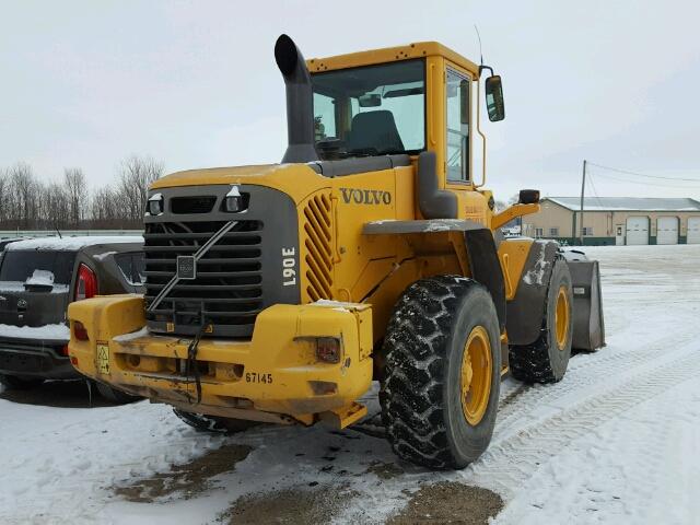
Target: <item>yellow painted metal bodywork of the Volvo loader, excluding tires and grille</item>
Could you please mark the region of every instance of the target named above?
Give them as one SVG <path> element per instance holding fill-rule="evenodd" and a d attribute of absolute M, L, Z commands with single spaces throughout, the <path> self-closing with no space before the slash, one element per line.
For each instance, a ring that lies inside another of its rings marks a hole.
<path fill-rule="evenodd" d="M 505 218 L 537 211 L 536 206 L 514 207 L 497 215 L 489 190 L 478 189 L 474 182 L 446 182 L 445 71 L 450 67 L 476 80 L 478 68 L 472 62 L 439 44 L 421 43 L 314 59 L 308 67 L 313 73 L 419 57 L 427 61 L 427 148 L 436 154 L 439 186 L 457 197 L 457 218 L 494 230 Z M 185 410 L 261 421 L 350 424 L 364 413 L 355 401 L 373 380 L 374 351 L 400 294 L 424 277 L 470 276 L 459 232 L 362 234 L 363 225 L 371 221 L 422 219 L 415 190 L 416 162 L 335 178 L 304 164 L 282 164 L 195 170 L 159 179 L 153 190 L 245 184 L 290 196 L 299 218 L 301 304 L 262 311 L 249 341 L 202 338 L 197 353 L 199 404 L 192 377 L 183 373 L 191 339 L 142 330 L 145 319 L 140 296 L 71 304 L 71 328 L 80 322 L 90 338 L 71 338 L 72 362 L 97 381 Z M 388 197 L 371 206 L 355 198 L 366 195 Z M 509 300 L 515 294 L 530 244 L 532 240 L 500 244 Z M 350 304 L 311 304 L 318 300 Z M 338 364 L 319 362 L 314 353 L 313 338 L 327 336 L 342 341 L 343 358 Z M 502 339 L 506 343 L 505 334 Z"/>

